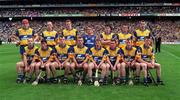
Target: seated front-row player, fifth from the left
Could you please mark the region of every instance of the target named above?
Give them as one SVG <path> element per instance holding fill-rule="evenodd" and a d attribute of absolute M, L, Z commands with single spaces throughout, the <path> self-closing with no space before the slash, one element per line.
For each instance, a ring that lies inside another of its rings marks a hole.
<path fill-rule="evenodd" d="M 101 72 L 101 78 L 99 81 L 101 83 L 103 83 L 104 77 L 106 75 L 106 70 L 107 70 L 107 67 L 106 67 L 106 64 L 104 63 L 103 58 L 104 58 L 104 55 L 107 54 L 107 51 L 104 48 L 102 48 L 100 40 L 96 39 L 95 47 L 92 47 L 90 49 L 90 54 L 91 54 L 93 60 L 91 60 L 91 63 L 89 63 L 89 69 L 90 69 L 90 71 L 88 71 L 89 76 L 92 77 L 92 69 L 93 68 L 95 68 L 95 69 L 100 68 L 102 70 L 102 72 Z"/>

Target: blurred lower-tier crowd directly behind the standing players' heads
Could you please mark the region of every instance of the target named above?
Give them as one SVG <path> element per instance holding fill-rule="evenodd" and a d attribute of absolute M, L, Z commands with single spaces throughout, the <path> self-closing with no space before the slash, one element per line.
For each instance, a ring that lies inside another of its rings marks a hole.
<path fill-rule="evenodd" d="M 64 28 L 64 21 L 53 20 L 54 30 L 59 34 Z M 128 24 L 130 32 L 133 33 L 138 28 L 139 20 L 74 20 L 73 27 L 76 28 L 79 34 L 85 33 L 85 27 L 92 25 L 95 34 L 100 34 L 104 30 L 105 25 L 111 25 L 113 33 L 119 33 L 123 24 Z M 147 21 L 148 27 L 152 34 L 162 37 L 162 42 L 177 42 L 180 41 L 180 20 L 157 20 Z M 37 34 L 41 34 L 46 29 L 46 21 L 30 21 L 30 26 Z M 15 31 L 21 27 L 21 21 L 0 21 L 0 39 L 7 41 Z"/>

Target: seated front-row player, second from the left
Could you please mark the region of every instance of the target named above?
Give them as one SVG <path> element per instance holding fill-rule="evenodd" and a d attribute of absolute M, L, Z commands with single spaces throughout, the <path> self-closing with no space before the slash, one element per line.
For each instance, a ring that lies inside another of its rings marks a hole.
<path fill-rule="evenodd" d="M 52 48 L 48 47 L 46 40 L 41 40 L 41 47 L 36 50 L 36 57 L 38 57 L 39 62 L 35 65 L 35 73 L 36 78 L 40 73 L 40 69 L 46 70 L 46 82 L 50 83 L 50 75 L 51 75 L 51 61 L 54 56 L 54 51 Z"/>

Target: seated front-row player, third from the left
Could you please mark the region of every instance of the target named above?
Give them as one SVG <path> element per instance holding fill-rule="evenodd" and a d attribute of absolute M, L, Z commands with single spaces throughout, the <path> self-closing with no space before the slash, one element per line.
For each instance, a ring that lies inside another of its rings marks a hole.
<path fill-rule="evenodd" d="M 55 46 L 56 57 L 58 60 L 53 63 L 52 72 L 56 75 L 56 68 L 64 68 L 64 83 L 68 81 L 68 74 L 70 71 L 70 58 L 68 58 L 68 53 L 72 51 L 71 47 L 65 44 L 65 37 L 61 36 L 59 38 L 58 45 Z"/>

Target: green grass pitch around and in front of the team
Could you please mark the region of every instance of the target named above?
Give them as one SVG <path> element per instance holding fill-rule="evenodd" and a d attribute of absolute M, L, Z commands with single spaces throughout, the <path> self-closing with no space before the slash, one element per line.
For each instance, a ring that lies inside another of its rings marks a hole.
<path fill-rule="evenodd" d="M 180 45 L 163 45 L 156 58 L 165 86 L 77 86 L 75 84 L 16 84 L 19 48 L 0 46 L 0 100 L 178 100 L 180 99 Z"/>

